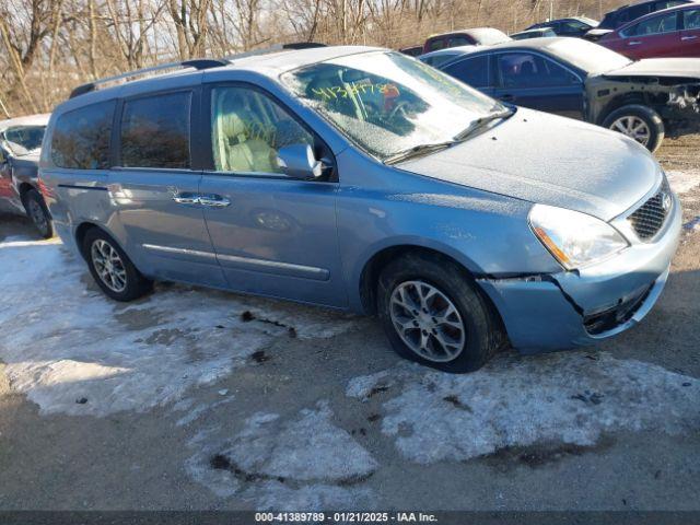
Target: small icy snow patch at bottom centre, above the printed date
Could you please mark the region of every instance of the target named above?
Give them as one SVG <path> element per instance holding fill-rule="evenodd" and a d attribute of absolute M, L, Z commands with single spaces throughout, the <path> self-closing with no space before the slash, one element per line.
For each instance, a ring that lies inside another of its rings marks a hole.
<path fill-rule="evenodd" d="M 377 463 L 331 419 L 327 402 L 319 401 L 292 420 L 254 413 L 233 439 L 218 427 L 200 431 L 189 442 L 197 453 L 187 471 L 215 494 L 237 493 L 260 510 L 358 509 L 372 501 L 372 492 L 352 485 Z"/>

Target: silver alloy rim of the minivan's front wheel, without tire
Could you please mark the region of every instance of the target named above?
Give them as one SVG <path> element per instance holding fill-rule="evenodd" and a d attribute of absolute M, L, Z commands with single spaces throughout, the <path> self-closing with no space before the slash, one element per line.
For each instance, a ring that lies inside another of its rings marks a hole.
<path fill-rule="evenodd" d="M 406 281 L 394 289 L 392 323 L 406 346 L 433 362 L 456 359 L 464 350 L 466 328 L 454 303 L 432 284 Z"/>

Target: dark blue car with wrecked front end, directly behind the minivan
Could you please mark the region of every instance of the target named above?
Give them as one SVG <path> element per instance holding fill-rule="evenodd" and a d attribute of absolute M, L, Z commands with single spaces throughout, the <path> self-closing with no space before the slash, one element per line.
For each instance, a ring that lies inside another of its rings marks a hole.
<path fill-rule="evenodd" d="M 698 129 L 700 59 L 633 62 L 580 38 L 533 38 L 465 52 L 447 74 L 510 104 L 620 131 L 651 151 Z"/>

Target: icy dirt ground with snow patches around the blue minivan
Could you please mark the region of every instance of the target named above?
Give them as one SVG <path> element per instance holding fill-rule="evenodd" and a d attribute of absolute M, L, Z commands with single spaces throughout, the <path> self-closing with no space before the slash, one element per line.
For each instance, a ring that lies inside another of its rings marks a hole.
<path fill-rule="evenodd" d="M 700 137 L 667 289 L 587 350 L 409 365 L 373 319 L 159 284 L 107 301 L 0 215 L 0 510 L 700 510 Z"/>

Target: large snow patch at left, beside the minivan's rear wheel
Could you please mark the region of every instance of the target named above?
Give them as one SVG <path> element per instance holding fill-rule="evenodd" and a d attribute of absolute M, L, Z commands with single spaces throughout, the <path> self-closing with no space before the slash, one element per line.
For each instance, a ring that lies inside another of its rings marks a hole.
<path fill-rule="evenodd" d="M 288 339 L 288 327 L 300 338 L 320 338 L 355 323 L 319 308 L 179 285 L 159 287 L 125 306 L 103 295 L 84 261 L 58 242 L 7 238 L 0 268 L 0 359 L 13 388 L 42 413 L 105 416 L 175 402 Z M 272 323 L 245 322 L 246 311 Z"/>

